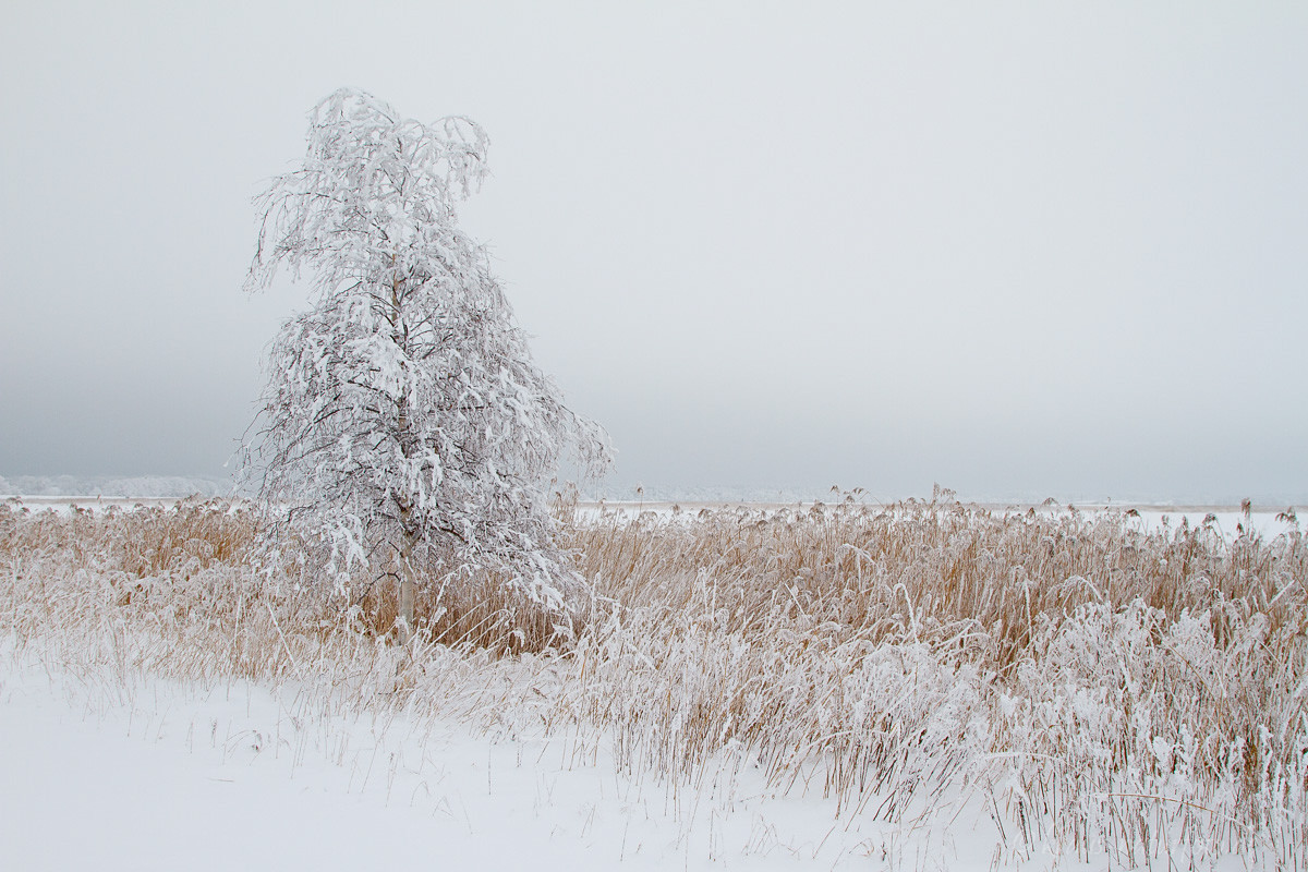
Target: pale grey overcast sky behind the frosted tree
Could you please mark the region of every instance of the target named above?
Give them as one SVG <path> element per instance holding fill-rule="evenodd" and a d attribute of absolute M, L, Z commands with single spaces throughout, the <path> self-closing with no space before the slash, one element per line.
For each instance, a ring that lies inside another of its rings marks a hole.
<path fill-rule="evenodd" d="M 341 85 L 616 486 L 1308 495 L 1308 4 L 9 4 L 0 475 L 221 475 L 250 203 Z"/>

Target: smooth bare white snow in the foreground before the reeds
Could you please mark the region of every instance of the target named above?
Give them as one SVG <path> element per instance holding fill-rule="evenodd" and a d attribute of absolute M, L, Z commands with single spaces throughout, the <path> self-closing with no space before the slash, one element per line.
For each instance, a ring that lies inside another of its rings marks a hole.
<path fill-rule="evenodd" d="M 14 869 L 986 869 L 994 856 L 967 828 L 837 821 L 802 790 L 751 791 L 748 774 L 731 796 L 675 795 L 566 737 L 349 722 L 246 684 L 124 693 L 9 650 L 0 784 Z"/>

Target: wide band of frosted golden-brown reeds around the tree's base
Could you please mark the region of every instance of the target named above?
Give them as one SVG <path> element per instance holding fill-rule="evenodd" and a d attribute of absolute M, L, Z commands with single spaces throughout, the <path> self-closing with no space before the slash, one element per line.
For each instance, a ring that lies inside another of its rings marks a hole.
<path fill-rule="evenodd" d="M 674 796 L 761 778 L 846 825 L 982 833 L 1003 863 L 1308 867 L 1292 516 L 559 511 L 595 590 L 570 633 L 487 579 L 433 584 L 398 646 L 392 582 L 344 601 L 293 561 L 256 571 L 258 516 L 215 502 L 0 509 L 0 625 L 106 693 L 251 680 L 301 710 L 555 736 Z"/>

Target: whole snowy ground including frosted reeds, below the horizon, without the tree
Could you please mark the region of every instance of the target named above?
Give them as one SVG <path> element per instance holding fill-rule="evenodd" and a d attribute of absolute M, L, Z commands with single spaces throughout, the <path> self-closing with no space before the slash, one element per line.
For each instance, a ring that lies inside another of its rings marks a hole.
<path fill-rule="evenodd" d="M 14 868 L 1308 865 L 1294 510 L 578 506 L 572 626 L 0 506 Z M 93 502 L 93 501 L 88 501 Z"/>

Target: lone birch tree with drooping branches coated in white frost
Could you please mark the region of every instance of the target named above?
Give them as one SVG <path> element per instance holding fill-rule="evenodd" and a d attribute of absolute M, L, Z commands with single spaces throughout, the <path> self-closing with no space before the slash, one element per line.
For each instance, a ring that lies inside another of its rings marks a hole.
<path fill-rule="evenodd" d="M 395 573 L 400 630 L 415 588 L 492 571 L 538 603 L 579 578 L 555 545 L 547 482 L 607 437 L 531 360 L 485 250 L 455 207 L 487 175 L 485 132 L 433 124 L 343 89 L 310 112 L 303 165 L 273 179 L 246 281 L 311 275 L 311 307 L 277 333 L 246 475 L 337 583 Z"/>

